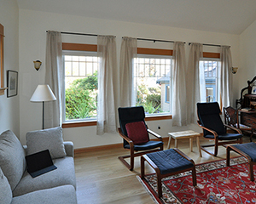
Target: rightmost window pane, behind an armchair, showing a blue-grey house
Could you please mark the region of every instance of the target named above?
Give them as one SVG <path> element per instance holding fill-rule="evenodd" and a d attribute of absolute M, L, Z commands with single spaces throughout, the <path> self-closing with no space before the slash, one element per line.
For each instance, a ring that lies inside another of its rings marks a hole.
<path fill-rule="evenodd" d="M 201 60 L 201 86 L 204 87 L 201 91 L 201 102 L 218 101 L 218 59 Z"/>

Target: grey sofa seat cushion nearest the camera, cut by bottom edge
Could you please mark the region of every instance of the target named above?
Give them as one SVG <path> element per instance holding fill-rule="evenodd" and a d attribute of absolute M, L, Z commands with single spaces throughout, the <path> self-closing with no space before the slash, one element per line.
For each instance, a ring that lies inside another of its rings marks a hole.
<path fill-rule="evenodd" d="M 2 203 L 2 202 L 1 202 Z M 62 185 L 47 190 L 37 190 L 14 197 L 11 204 L 77 204 L 76 191 L 72 185 Z"/>

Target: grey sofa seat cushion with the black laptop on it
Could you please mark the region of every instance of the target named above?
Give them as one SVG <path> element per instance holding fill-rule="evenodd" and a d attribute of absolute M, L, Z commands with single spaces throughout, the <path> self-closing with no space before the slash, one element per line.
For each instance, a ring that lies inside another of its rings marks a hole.
<path fill-rule="evenodd" d="M 36 178 L 32 178 L 26 171 L 20 183 L 13 191 L 13 195 L 24 195 L 35 190 L 44 190 L 65 184 L 71 184 L 76 188 L 73 157 L 65 156 L 60 159 L 55 159 L 53 162 L 57 169 L 44 173 Z"/>

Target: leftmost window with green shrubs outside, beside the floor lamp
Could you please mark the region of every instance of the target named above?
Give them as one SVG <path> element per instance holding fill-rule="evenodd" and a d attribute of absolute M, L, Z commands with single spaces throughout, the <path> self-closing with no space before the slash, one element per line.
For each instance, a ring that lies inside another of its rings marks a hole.
<path fill-rule="evenodd" d="M 64 51 L 65 119 L 96 119 L 97 56 L 96 52 Z"/>

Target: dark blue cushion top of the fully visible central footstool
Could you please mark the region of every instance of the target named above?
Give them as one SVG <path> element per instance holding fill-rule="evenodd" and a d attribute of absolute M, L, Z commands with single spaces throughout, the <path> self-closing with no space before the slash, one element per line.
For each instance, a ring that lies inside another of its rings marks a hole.
<path fill-rule="evenodd" d="M 176 173 L 194 166 L 192 162 L 177 153 L 176 150 L 162 150 L 149 153 L 146 156 L 159 167 L 162 175 Z"/>

